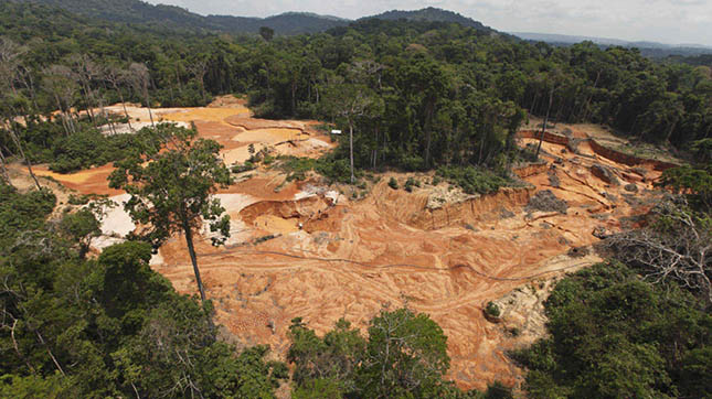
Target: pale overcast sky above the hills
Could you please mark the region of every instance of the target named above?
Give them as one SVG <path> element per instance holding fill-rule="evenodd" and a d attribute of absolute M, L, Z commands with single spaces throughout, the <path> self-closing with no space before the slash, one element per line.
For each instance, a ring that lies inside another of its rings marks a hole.
<path fill-rule="evenodd" d="M 203 15 L 308 11 L 348 19 L 437 7 L 504 32 L 712 45 L 712 0 L 147 0 Z"/>

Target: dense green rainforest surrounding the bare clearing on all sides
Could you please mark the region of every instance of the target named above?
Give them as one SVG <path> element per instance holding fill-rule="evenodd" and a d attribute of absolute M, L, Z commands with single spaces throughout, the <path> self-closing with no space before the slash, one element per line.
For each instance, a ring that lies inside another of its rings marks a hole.
<path fill-rule="evenodd" d="M 709 66 L 593 43 L 530 44 L 443 22 L 262 33 L 195 33 L 0 3 L 3 170 L 14 159 L 60 172 L 121 160 L 135 137 L 104 134 L 128 121 L 104 106 L 202 106 L 222 94 L 247 96 L 259 116 L 315 118 L 352 132 L 360 170 L 504 179 L 522 155 L 513 134 L 528 115 L 669 144 L 688 151 L 691 164 L 666 172 L 662 184 L 684 195 L 660 204 L 645 229 L 607 241 L 609 262 L 560 282 L 546 303 L 551 336 L 512 357 L 530 370 L 532 397 L 712 395 Z M 348 151 L 344 142 L 317 169 L 343 164 Z M 100 209 L 64 213 L 51 193 L 7 183 L 2 397 L 273 397 L 289 378 L 298 398 L 511 395 L 498 384 L 481 393 L 448 382 L 447 338 L 407 309 L 382 310 L 366 334 L 340 321 L 318 336 L 294 320 L 290 373 L 267 360 L 266 347 L 223 342 L 210 302 L 179 295 L 149 268 L 150 246 L 128 241 L 87 257 Z M 397 328 L 385 334 L 385 324 Z M 400 343 L 395 356 L 382 356 L 386 342 Z"/>

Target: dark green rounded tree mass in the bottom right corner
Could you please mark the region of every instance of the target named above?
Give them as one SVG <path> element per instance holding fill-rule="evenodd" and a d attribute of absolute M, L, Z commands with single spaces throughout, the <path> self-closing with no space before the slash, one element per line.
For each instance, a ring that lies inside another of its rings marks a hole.
<path fill-rule="evenodd" d="M 692 370 L 709 365 L 694 354 L 710 345 L 712 316 L 676 284 L 602 263 L 559 282 L 545 310 L 551 338 L 514 355 L 530 370 L 530 397 L 699 395 Z M 686 371 L 684 358 L 699 366 Z"/>

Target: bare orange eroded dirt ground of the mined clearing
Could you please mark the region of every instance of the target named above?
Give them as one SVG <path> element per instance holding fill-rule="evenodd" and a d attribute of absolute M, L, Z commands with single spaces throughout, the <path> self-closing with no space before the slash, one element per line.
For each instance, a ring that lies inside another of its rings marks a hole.
<path fill-rule="evenodd" d="M 225 145 L 229 162 L 246 159 L 249 143 L 308 157 L 332 145 L 318 136 L 315 122 L 252 119 L 230 98 L 213 107 L 157 115 L 194 122 L 201 137 Z M 530 142 L 520 140 L 521 145 Z M 594 231 L 618 230 L 621 223 L 635 219 L 630 216 L 647 212 L 652 195 L 647 190 L 660 173 L 602 158 L 586 143 L 578 153 L 549 142 L 543 150 L 545 164 L 519 171 L 531 187 L 440 201 L 435 199 L 454 193 L 446 183 L 407 193 L 385 184 L 391 174 L 364 199 L 351 202 L 339 187 L 327 187 L 318 179 L 285 184 L 285 176 L 276 172 L 252 172 L 252 179 L 220 193 L 232 216 L 229 244 L 213 248 L 206 235 L 198 244 L 219 322 L 241 342 L 269 344 L 284 355 L 287 328 L 296 316 L 323 333 L 340 317 L 365 327 L 383 303 L 407 304 L 427 312 L 444 328 L 453 359 L 449 376 L 460 387 L 481 389 L 495 379 L 520 382 L 521 370 L 504 352 L 541 334 L 543 322 L 527 313 L 541 308 L 542 299 L 536 294 L 518 300 L 510 292 L 597 261 L 593 255 L 566 254 L 596 242 Z M 597 176 L 595 165 L 604 166 L 618 184 Z M 108 166 L 70 175 L 38 173 L 83 193 L 119 194 L 106 187 Z M 633 190 L 629 184 L 637 194 L 627 191 Z M 566 213 L 525 211 L 541 190 L 565 199 Z M 119 219 L 114 223 L 126 222 Z M 182 237 L 169 240 L 152 265 L 180 292 L 195 293 Z M 510 319 L 487 321 L 482 308 L 502 298 L 511 300 L 506 313 Z M 511 325 L 521 325 L 525 334 L 511 337 L 506 328 Z"/>

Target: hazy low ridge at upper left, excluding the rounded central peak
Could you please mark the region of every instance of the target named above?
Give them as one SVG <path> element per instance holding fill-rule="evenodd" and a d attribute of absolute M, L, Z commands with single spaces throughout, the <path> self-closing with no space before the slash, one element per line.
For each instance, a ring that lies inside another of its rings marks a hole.
<path fill-rule="evenodd" d="M 300 34 L 322 32 L 350 23 L 334 17 L 304 12 L 287 12 L 279 15 L 246 18 L 232 15 L 203 17 L 174 6 L 152 6 L 140 0 L 13 0 L 61 8 L 84 17 L 111 22 L 151 24 L 183 30 L 209 30 L 230 33 L 256 34 L 261 26 L 267 26 L 277 34 Z"/>

